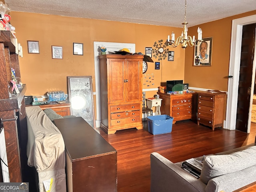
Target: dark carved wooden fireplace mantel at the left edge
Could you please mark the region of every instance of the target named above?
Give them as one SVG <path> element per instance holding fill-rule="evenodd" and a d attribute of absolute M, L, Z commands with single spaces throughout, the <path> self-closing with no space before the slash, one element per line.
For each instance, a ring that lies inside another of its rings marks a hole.
<path fill-rule="evenodd" d="M 19 91 L 12 92 L 12 73 L 20 77 L 18 54 L 16 54 L 15 39 L 10 31 L 0 31 L 0 119 L 1 130 L 4 131 L 6 156 L 10 182 L 28 182 L 25 178 L 27 167 L 26 143 L 27 124 L 24 94 L 26 85 Z M 3 129 L 2 129 L 3 128 Z"/>

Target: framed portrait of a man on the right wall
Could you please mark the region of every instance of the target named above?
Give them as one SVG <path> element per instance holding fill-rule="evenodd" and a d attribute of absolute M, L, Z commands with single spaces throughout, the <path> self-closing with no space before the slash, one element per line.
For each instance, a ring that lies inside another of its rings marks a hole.
<path fill-rule="evenodd" d="M 200 46 L 195 46 L 194 66 L 211 66 L 212 37 L 203 38 Z"/>

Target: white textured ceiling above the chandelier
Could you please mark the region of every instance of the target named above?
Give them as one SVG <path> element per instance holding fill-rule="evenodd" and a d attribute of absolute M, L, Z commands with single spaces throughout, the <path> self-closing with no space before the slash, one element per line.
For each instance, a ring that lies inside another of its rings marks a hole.
<path fill-rule="evenodd" d="M 182 27 L 185 0 L 5 0 L 12 11 Z M 187 0 L 188 27 L 256 10 L 256 0 Z"/>

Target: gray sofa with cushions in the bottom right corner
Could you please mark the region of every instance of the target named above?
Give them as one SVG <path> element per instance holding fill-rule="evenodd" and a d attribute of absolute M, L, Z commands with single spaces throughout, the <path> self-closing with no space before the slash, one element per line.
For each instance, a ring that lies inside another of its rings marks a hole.
<path fill-rule="evenodd" d="M 196 158 L 203 160 L 203 157 Z M 204 157 L 200 178 L 157 152 L 150 154 L 151 192 L 231 192 L 256 181 L 256 138 L 247 146 Z"/>

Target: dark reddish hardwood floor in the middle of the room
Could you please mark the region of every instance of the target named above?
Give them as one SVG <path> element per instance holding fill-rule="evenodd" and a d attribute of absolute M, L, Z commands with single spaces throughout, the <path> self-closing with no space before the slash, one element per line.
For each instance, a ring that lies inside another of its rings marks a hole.
<path fill-rule="evenodd" d="M 145 122 L 146 125 L 147 122 Z M 168 134 L 152 135 L 147 126 L 100 134 L 117 150 L 118 192 L 150 192 L 150 154 L 158 152 L 172 162 L 214 154 L 253 143 L 256 123 L 250 134 L 197 125 L 191 120 L 178 121 Z"/>

